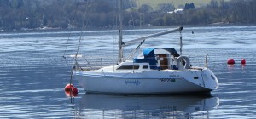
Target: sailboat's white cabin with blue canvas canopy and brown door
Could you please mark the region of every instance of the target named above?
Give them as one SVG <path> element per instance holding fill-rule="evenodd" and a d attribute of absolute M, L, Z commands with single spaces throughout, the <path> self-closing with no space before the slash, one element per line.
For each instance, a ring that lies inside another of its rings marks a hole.
<path fill-rule="evenodd" d="M 120 70 L 186 70 L 189 69 L 189 59 L 177 54 L 174 48 L 146 48 L 134 58 L 118 65 Z"/>

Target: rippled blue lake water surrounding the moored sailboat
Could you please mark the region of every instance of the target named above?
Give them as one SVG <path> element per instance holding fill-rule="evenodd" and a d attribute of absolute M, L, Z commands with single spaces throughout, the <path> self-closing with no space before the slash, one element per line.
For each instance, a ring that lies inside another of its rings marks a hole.
<path fill-rule="evenodd" d="M 163 30 L 124 31 L 124 41 Z M 85 94 L 78 82 L 78 96 L 67 97 L 72 60 L 62 56 L 76 54 L 82 34 L 79 54 L 115 59 L 116 33 L 1 32 L 0 118 L 255 118 L 256 26 L 184 27 L 183 55 L 201 66 L 208 55 L 208 67 L 218 77 L 219 88 L 211 97 Z M 178 38 L 179 33 L 153 38 L 142 48 L 173 47 L 179 52 Z M 125 54 L 136 46 L 125 48 Z M 227 65 L 229 58 L 236 64 Z M 241 65 L 242 58 L 246 65 Z"/>

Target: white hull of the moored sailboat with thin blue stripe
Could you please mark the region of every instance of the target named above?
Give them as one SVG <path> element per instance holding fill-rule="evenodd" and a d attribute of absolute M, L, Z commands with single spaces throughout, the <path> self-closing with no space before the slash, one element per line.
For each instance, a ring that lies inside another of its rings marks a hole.
<path fill-rule="evenodd" d="M 217 78 L 207 68 L 203 71 L 74 71 L 74 77 L 86 93 L 180 94 L 218 88 Z"/>

